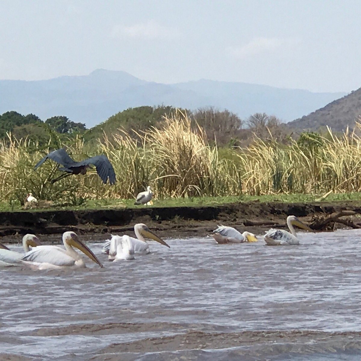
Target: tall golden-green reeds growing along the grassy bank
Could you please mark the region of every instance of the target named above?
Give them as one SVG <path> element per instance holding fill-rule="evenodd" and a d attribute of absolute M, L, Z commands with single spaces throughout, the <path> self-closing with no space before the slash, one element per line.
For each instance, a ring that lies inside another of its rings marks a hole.
<path fill-rule="evenodd" d="M 0 201 L 21 202 L 32 192 L 56 204 L 80 205 L 85 199 L 131 199 L 148 185 L 155 198 L 361 191 L 360 136 L 347 130 L 336 137 L 329 129 L 320 140 L 304 147 L 256 139 L 248 148 L 219 152 L 201 127 L 195 129 L 187 114 L 176 112 L 162 129 L 139 132 L 136 140 L 120 131 L 92 145 L 81 138 L 64 144 L 75 160 L 105 153 L 117 175 L 110 186 L 95 169 L 52 184 L 58 174 L 54 162 L 33 170 L 52 149 L 36 150 L 31 139 L 9 134 L 0 142 Z"/>

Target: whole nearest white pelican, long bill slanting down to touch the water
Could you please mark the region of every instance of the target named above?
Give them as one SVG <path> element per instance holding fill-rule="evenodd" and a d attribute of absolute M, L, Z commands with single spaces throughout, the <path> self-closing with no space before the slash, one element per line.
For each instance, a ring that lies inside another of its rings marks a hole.
<path fill-rule="evenodd" d="M 78 248 L 100 267 L 100 263 L 94 253 L 79 239 L 75 232 L 64 232 L 64 248 L 52 245 L 38 246 L 25 253 L 21 260 L 36 269 L 64 268 L 68 266 L 85 267 L 83 258 L 75 251 Z"/>

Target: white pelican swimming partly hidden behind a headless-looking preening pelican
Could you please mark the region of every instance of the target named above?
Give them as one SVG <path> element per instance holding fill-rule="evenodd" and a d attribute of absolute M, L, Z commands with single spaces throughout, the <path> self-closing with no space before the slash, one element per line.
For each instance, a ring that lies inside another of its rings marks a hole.
<path fill-rule="evenodd" d="M 147 242 L 145 242 L 144 237 L 153 239 L 153 240 L 157 241 L 158 243 L 163 244 L 163 245 L 167 246 L 168 248 L 170 248 L 170 246 L 166 242 L 164 242 L 164 240 L 162 240 L 156 234 L 154 234 L 151 230 L 149 230 L 149 228 L 144 223 L 137 223 L 134 226 L 134 232 L 135 232 L 136 238 L 129 237 L 129 239 L 133 245 L 135 253 L 138 253 L 141 255 L 147 255 L 150 252 L 149 245 Z M 113 238 L 113 236 L 112 236 L 112 238 Z M 104 243 L 104 246 L 101 250 L 103 253 L 109 254 L 110 242 L 111 242 L 111 240 L 106 241 Z M 109 259 L 113 260 L 114 258 L 110 257 L 110 255 L 109 255 Z"/>

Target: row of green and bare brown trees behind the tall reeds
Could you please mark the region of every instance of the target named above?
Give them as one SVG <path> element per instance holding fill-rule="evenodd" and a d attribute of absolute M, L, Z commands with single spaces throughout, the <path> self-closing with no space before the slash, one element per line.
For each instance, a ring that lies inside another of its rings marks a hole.
<path fill-rule="evenodd" d="M 71 121 L 66 116 L 53 116 L 43 122 L 35 114 L 22 115 L 10 111 L 0 115 L 0 138 L 6 138 L 6 134 L 11 132 L 16 139 L 30 137 L 39 145 L 45 145 L 55 133 L 60 139 L 82 135 L 88 142 L 101 139 L 104 135 L 114 135 L 120 132 L 119 129 L 127 131 L 136 138 L 139 132 L 151 127 L 161 128 L 164 125 L 164 116 L 170 116 L 177 111 L 186 112 L 192 119 L 194 129 L 203 128 L 207 140 L 216 142 L 220 146 L 242 145 L 255 136 L 282 141 L 290 133 L 287 126 L 278 118 L 266 113 L 255 113 L 243 120 L 227 109 L 206 107 L 190 111 L 162 105 L 123 110 L 91 129 L 86 129 L 84 123 Z"/>

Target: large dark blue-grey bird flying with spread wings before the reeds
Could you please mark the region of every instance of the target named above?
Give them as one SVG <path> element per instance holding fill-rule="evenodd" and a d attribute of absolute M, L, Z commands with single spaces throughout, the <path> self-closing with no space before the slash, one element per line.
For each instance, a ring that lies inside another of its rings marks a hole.
<path fill-rule="evenodd" d="M 65 149 L 60 148 L 56 151 L 50 152 L 42 160 L 40 160 L 34 167 L 34 170 L 40 167 L 47 159 L 51 159 L 58 164 L 64 166 L 64 168 L 59 168 L 66 173 L 60 175 L 58 178 L 52 180 L 52 183 L 59 181 L 62 178 L 68 177 L 71 174 L 86 174 L 87 168 L 90 168 L 90 165 L 95 165 L 96 172 L 103 181 L 104 184 L 108 181 L 109 183 L 114 184 L 116 182 L 115 172 L 113 166 L 110 164 L 108 157 L 104 154 L 84 159 L 80 162 L 75 162 L 71 159 L 66 153 Z"/>

